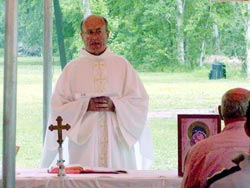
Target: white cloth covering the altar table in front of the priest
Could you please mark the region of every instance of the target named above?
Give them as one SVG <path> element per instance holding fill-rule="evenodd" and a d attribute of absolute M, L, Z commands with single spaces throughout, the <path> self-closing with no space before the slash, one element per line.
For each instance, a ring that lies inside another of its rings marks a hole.
<path fill-rule="evenodd" d="M 177 170 L 140 170 L 127 174 L 67 174 L 46 169 L 16 169 L 16 188 L 179 188 Z M 0 179 L 2 188 L 2 177 Z"/>

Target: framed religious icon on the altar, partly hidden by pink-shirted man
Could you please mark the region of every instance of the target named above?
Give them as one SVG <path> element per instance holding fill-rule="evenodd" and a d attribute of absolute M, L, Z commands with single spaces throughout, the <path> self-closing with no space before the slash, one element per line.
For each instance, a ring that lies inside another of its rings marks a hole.
<path fill-rule="evenodd" d="M 217 114 L 178 114 L 178 176 L 183 176 L 187 152 L 197 142 L 221 131 Z"/>

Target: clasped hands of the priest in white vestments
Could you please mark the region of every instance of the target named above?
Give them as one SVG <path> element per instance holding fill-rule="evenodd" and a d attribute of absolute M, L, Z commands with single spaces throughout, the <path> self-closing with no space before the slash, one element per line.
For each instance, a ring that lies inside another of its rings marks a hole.
<path fill-rule="evenodd" d="M 87 111 L 115 111 L 113 101 L 109 97 L 95 97 L 89 100 Z"/>

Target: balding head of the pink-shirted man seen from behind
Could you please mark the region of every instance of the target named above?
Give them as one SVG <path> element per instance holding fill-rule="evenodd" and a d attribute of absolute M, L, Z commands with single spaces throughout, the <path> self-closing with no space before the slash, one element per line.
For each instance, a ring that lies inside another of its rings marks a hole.
<path fill-rule="evenodd" d="M 223 119 L 234 119 L 246 116 L 250 91 L 243 88 L 228 90 L 221 100 L 221 116 Z"/>

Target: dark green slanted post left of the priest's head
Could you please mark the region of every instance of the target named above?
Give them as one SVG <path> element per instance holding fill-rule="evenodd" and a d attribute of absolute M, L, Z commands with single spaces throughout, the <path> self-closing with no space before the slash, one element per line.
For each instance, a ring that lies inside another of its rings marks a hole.
<path fill-rule="evenodd" d="M 60 9 L 59 0 L 53 0 L 54 10 L 55 10 L 55 19 L 56 19 L 56 33 L 57 33 L 57 42 L 59 47 L 60 62 L 61 68 L 63 69 L 67 64 L 66 52 L 64 47 L 64 38 L 63 38 L 63 28 L 62 28 L 62 12 Z"/>

